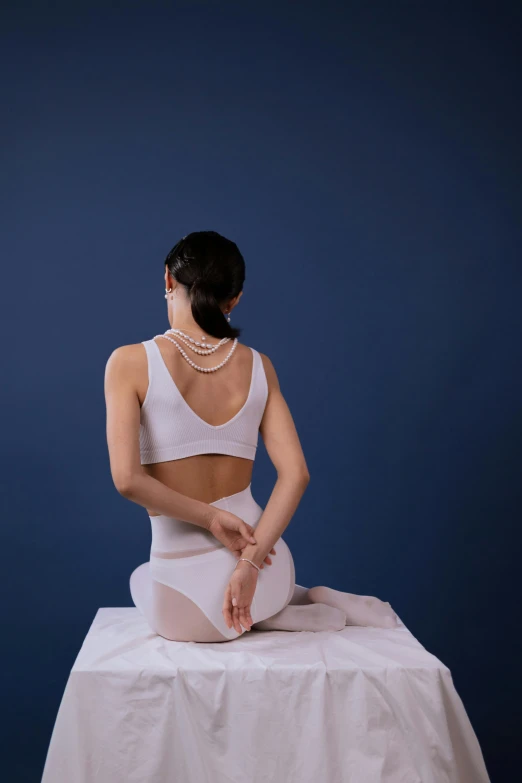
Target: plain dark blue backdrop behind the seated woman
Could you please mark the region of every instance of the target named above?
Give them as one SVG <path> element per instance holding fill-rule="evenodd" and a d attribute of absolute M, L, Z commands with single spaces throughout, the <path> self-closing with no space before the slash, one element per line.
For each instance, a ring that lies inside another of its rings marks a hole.
<path fill-rule="evenodd" d="M 39 780 L 94 614 L 148 557 L 104 368 L 168 328 L 163 259 L 204 229 L 245 256 L 233 323 L 310 469 L 297 581 L 390 601 L 514 780 L 521 27 L 502 3 L 3 4 L 10 783 Z M 274 478 L 260 440 L 260 503 Z"/>

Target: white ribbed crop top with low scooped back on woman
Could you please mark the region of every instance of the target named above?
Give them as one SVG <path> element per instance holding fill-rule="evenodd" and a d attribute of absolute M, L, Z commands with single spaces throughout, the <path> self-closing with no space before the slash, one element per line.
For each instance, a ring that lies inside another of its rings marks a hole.
<path fill-rule="evenodd" d="M 254 354 L 248 397 L 224 424 L 208 424 L 190 407 L 163 360 L 155 340 L 144 340 L 149 386 L 141 406 L 141 464 L 167 462 L 195 454 L 229 454 L 254 460 L 268 382 L 259 353 Z"/>

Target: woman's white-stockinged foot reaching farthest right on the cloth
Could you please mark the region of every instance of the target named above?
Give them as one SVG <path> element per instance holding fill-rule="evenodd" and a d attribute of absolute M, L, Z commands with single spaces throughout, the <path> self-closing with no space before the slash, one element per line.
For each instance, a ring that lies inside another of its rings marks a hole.
<path fill-rule="evenodd" d="M 346 625 L 369 625 L 377 628 L 396 628 L 397 615 L 388 601 L 372 595 L 343 593 L 331 587 L 311 587 L 308 597 L 313 603 L 328 604 L 341 609 L 346 615 Z"/>

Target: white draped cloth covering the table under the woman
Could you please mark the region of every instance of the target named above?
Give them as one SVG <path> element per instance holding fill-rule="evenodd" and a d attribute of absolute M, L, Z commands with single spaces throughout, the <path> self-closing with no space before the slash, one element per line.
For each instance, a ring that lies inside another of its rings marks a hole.
<path fill-rule="evenodd" d="M 395 629 L 172 642 L 99 609 L 42 783 L 489 783 L 450 670 Z"/>

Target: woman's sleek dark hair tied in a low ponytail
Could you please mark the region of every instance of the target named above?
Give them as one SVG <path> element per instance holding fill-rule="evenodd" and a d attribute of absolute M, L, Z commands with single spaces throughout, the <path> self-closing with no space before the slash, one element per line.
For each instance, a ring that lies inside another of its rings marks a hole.
<path fill-rule="evenodd" d="M 239 337 L 241 329 L 230 326 L 220 308 L 245 282 L 245 260 L 235 242 L 217 231 L 194 231 L 174 245 L 165 264 L 186 287 L 192 315 L 203 331 L 219 338 Z"/>

